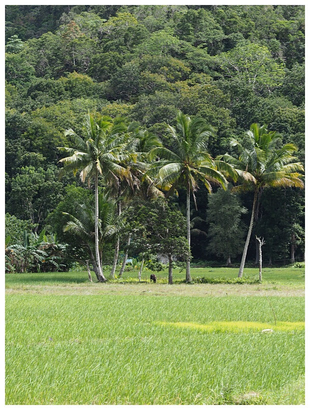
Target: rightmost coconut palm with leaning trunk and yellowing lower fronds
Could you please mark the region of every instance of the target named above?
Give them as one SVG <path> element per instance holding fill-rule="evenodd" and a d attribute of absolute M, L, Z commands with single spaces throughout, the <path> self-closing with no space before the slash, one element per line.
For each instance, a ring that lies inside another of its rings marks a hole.
<path fill-rule="evenodd" d="M 222 159 L 230 163 L 237 171 L 240 185 L 235 186 L 233 189 L 254 191 L 251 219 L 238 272 L 238 277 L 242 277 L 257 207 L 257 197 L 266 186 L 296 186 L 303 188 L 303 182 L 300 179 L 302 175 L 298 172 L 303 171 L 303 166 L 300 162 L 292 162 L 296 159 L 292 155 L 297 149 L 296 146 L 287 143 L 279 147 L 280 134 L 276 131 L 268 131 L 266 125 L 251 124 L 242 143 L 233 139 L 230 144 L 238 148 L 238 158 L 226 153 L 217 156 L 215 159 Z"/>

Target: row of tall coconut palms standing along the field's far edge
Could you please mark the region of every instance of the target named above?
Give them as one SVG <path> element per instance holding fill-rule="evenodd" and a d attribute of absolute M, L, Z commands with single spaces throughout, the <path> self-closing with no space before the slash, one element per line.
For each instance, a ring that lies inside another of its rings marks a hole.
<path fill-rule="evenodd" d="M 194 204 L 195 191 L 202 182 L 211 192 L 211 185 L 227 186 L 227 180 L 238 183 L 234 189 L 252 189 L 254 191 L 251 222 L 242 255 L 239 277 L 242 276 L 247 246 L 257 206 L 257 197 L 265 186 L 299 186 L 302 165 L 293 162 L 293 144 L 280 146 L 277 132 L 268 132 L 266 127 L 252 124 L 246 133 L 244 143 L 233 140 L 237 146 L 237 157 L 228 155 L 213 159 L 207 152 L 207 140 L 214 133 L 212 127 L 202 118 L 190 118 L 179 112 L 176 127 L 168 126 L 167 132 L 172 138 L 170 149 L 162 146 L 159 139 L 137 123 L 127 125 L 122 118 L 112 119 L 109 116 L 85 116 L 84 137 L 72 129 L 65 131 L 73 138 L 74 147 L 60 147 L 68 156 L 60 159 L 64 167 L 61 173 L 80 171 L 84 182 L 94 182 L 94 255 L 93 269 L 99 281 L 105 281 L 100 259 L 98 229 L 101 224 L 99 215 L 99 177 L 109 187 L 109 194 L 121 214 L 123 203 L 134 195 L 145 199 L 156 195 L 175 192 L 179 187 L 186 189 L 186 225 L 187 241 L 190 246 L 190 195 Z M 83 210 L 86 212 L 86 210 Z M 71 220 L 65 229 L 72 229 L 81 234 L 78 219 Z M 112 229 L 112 228 L 110 228 Z M 116 232 L 116 230 L 115 230 Z M 114 232 L 114 233 L 115 233 Z M 129 236 L 130 240 L 130 236 Z M 119 235 L 116 234 L 114 263 L 111 275 L 114 274 L 119 248 Z M 191 281 L 190 259 L 186 261 L 186 282 Z"/>

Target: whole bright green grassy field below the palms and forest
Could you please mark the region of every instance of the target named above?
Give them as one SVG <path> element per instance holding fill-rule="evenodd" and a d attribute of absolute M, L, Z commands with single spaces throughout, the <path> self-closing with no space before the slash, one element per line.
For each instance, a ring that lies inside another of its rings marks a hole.
<path fill-rule="evenodd" d="M 268 270 L 253 285 L 6 274 L 5 403 L 304 403 L 304 271 Z"/>

